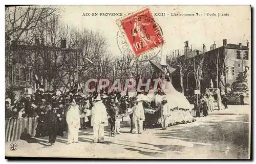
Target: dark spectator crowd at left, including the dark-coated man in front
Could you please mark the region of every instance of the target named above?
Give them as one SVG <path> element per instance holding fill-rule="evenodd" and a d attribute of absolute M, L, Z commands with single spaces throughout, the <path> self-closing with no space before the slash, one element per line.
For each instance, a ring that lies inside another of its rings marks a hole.
<path fill-rule="evenodd" d="M 121 96 L 118 92 L 108 93 L 103 91 L 101 93 L 88 93 L 88 95 L 82 96 L 74 91 L 66 94 L 56 94 L 37 90 L 35 96 L 25 96 L 19 101 L 7 98 L 5 118 L 37 118 L 36 136 L 49 136 L 49 142 L 54 144 L 56 135 L 63 136 L 64 131 L 70 131 L 67 115 L 70 108 L 74 108 L 72 107 L 74 105 L 77 106 L 79 111 L 79 128 L 83 129 L 94 126 L 92 119 L 93 108 L 99 104 L 99 99 L 104 105 L 107 114 L 108 122 L 105 122 L 105 124 L 111 125 L 111 132 L 120 133 L 120 121 L 122 117 L 118 116 L 125 114 L 127 108 L 132 108 L 136 103 L 136 98 L 129 98 L 127 95 Z M 52 121 L 54 120 L 53 116 L 55 115 L 53 114 L 55 113 L 57 120 Z M 88 115 L 87 113 L 91 114 Z M 130 118 L 131 120 L 133 119 L 132 114 Z M 133 129 L 132 126 L 131 132 Z M 54 133 L 54 135 L 51 133 Z"/>

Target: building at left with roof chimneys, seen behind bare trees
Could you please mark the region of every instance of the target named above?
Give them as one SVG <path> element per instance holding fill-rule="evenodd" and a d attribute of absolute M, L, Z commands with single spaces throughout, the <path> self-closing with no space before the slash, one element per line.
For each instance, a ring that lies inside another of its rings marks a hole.
<path fill-rule="evenodd" d="M 75 58 L 77 49 L 66 47 L 66 40 L 61 40 L 60 47 L 40 45 L 14 45 L 6 47 L 6 96 L 19 99 L 26 94 L 33 94 L 36 81 L 44 90 L 52 90 L 54 86 L 54 67 L 65 68 L 65 58 Z M 63 80 L 68 74 L 63 76 Z M 60 85 L 61 86 L 61 85 Z"/>

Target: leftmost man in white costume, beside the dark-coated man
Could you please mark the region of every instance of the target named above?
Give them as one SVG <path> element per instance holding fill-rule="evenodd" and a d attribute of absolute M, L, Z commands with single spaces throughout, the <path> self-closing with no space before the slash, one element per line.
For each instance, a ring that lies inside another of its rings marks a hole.
<path fill-rule="evenodd" d="M 68 105 L 67 123 L 69 127 L 68 145 L 72 142 L 78 143 L 78 132 L 80 128 L 79 108 L 74 102 Z"/>

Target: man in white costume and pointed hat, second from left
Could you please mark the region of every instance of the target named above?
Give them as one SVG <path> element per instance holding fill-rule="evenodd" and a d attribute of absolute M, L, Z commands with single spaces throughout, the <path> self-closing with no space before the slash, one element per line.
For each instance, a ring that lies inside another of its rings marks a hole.
<path fill-rule="evenodd" d="M 100 95 L 95 99 L 92 107 L 92 120 L 94 143 L 104 143 L 104 127 L 108 126 L 108 116 L 105 105 L 101 102 Z"/>

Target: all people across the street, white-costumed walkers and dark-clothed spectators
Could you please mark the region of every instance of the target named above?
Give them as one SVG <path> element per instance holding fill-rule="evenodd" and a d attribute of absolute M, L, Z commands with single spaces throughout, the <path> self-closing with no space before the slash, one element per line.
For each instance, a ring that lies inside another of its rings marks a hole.
<path fill-rule="evenodd" d="M 158 94 L 161 95 L 161 92 Z M 126 114 L 133 123 L 135 133 L 141 134 L 144 130 L 145 108 L 153 107 L 159 111 L 162 129 L 168 126 L 169 107 L 166 98 L 161 100 L 161 105 L 156 107 L 154 101 L 143 101 L 144 91 L 137 93 L 137 97 L 121 95 L 118 92 L 100 92 L 80 95 L 79 92 L 56 94 L 38 90 L 34 96 L 26 96 L 19 101 L 6 99 L 6 119 L 37 118 L 36 136 L 49 136 L 49 143 L 54 145 L 56 136 L 63 136 L 63 132 L 69 132 L 68 144 L 78 142 L 79 128 L 93 127 L 94 142 L 104 141 L 104 126 L 110 125 L 110 135 L 120 133 L 120 122 Z M 214 111 L 214 101 L 217 101 L 218 110 L 227 108 L 227 99 L 221 97 L 218 92 L 203 94 L 197 103 L 196 96 L 189 96 L 188 100 L 194 103 L 196 116 L 208 116 L 208 111 Z M 131 113 L 127 112 L 131 109 Z"/>

